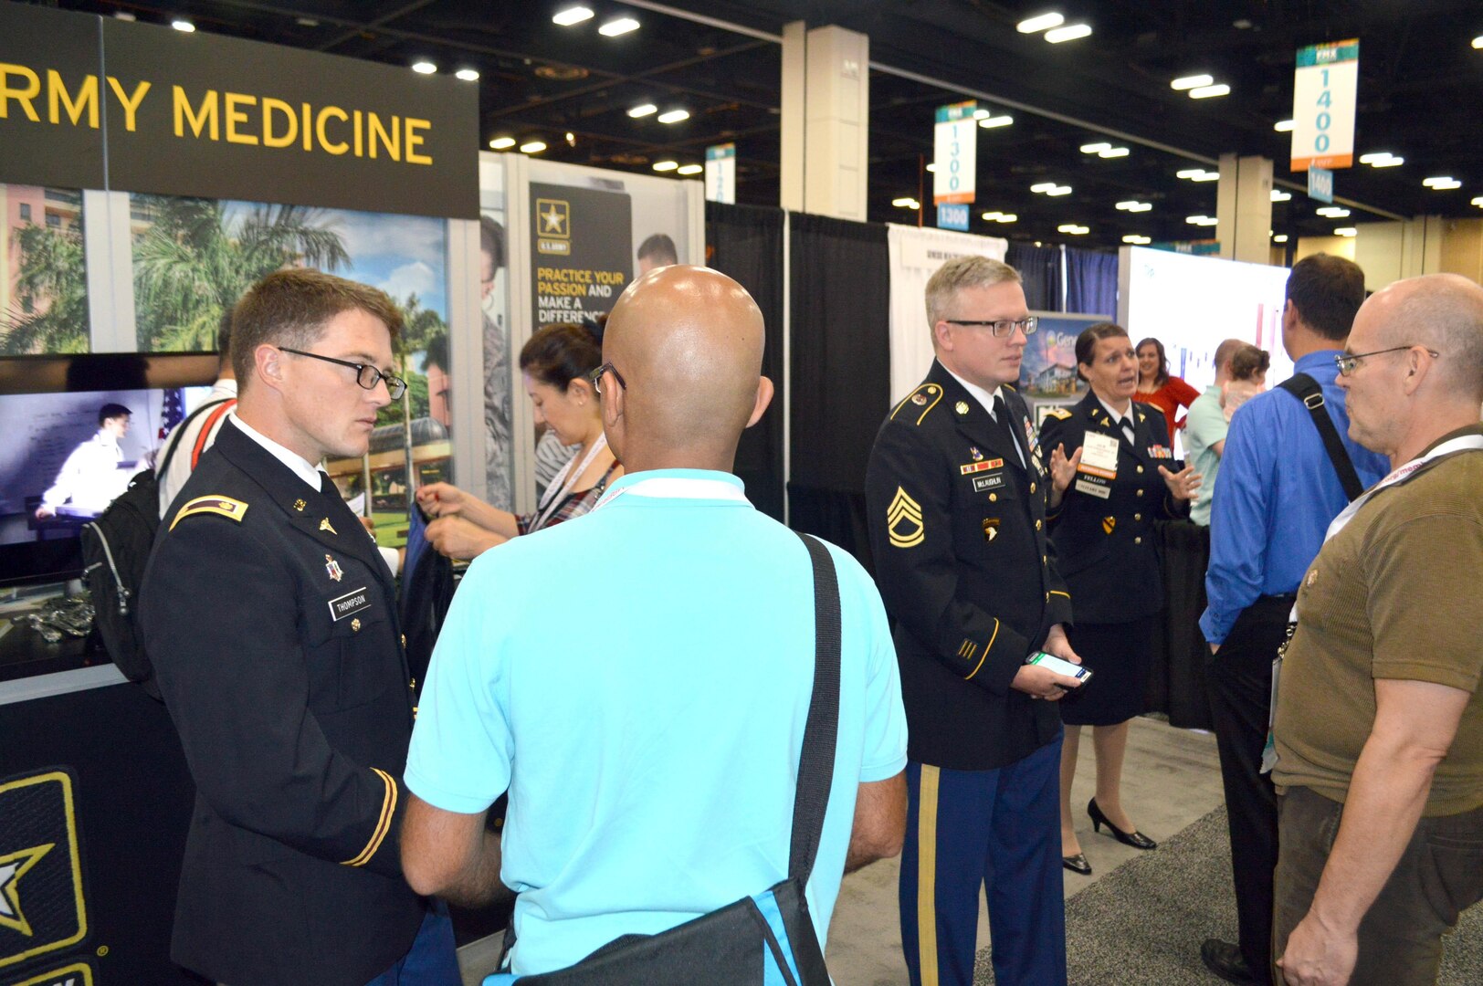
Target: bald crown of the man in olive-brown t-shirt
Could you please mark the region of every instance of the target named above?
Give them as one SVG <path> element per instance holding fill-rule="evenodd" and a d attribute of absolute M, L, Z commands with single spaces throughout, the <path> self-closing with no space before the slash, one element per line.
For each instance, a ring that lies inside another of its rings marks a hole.
<path fill-rule="evenodd" d="M 1407 277 L 1375 292 L 1364 308 L 1382 347 L 1440 353 L 1439 383 L 1458 397 L 1483 400 L 1483 288 L 1461 274 Z"/>

